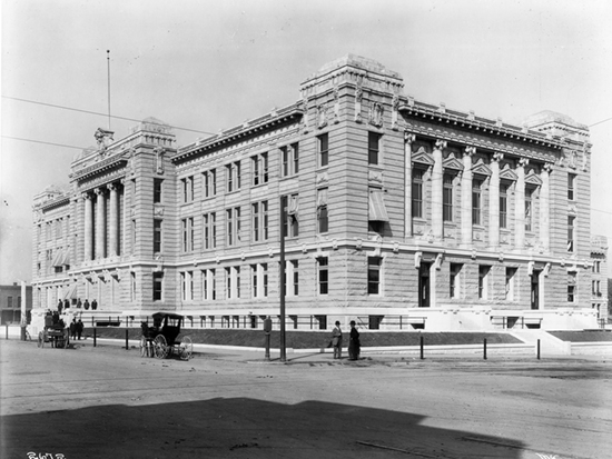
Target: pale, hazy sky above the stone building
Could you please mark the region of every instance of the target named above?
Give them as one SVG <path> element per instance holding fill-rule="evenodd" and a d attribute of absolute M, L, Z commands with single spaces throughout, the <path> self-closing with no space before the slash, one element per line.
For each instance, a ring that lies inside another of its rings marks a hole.
<path fill-rule="evenodd" d="M 0 285 L 31 280 L 33 196 L 68 184 L 108 128 L 109 81 L 115 139 L 152 116 L 182 146 L 297 101 L 348 53 L 399 72 L 419 101 L 588 124 L 592 232 L 612 243 L 609 0 L 0 1 Z"/>

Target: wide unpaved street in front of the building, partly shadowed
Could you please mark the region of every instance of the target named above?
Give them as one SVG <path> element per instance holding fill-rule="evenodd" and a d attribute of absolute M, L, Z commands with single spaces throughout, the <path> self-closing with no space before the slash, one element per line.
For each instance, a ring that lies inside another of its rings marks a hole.
<path fill-rule="evenodd" d="M 1 451 L 26 458 L 603 458 L 612 358 L 426 359 L 0 341 Z M 47 456 L 45 456 L 47 455 Z"/>

